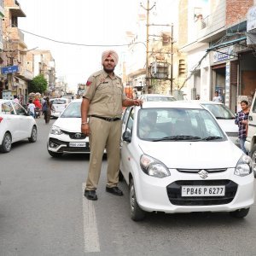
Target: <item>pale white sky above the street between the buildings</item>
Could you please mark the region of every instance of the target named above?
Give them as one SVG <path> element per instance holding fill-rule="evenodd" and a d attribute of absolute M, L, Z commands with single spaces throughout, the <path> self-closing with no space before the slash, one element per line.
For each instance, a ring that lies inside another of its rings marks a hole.
<path fill-rule="evenodd" d="M 115 49 L 120 54 L 126 49 L 117 45 L 128 43 L 125 32 L 136 26 L 138 13 L 146 14 L 140 3 L 144 7 L 147 3 L 146 0 L 18 2 L 26 14 L 26 17 L 19 18 L 18 26 L 25 35 L 27 49 L 49 49 L 55 59 L 56 77 L 64 77 L 70 89 L 76 89 L 77 84 L 85 83 L 91 73 L 102 68 L 102 51 Z M 166 20 L 171 20 L 172 3 L 177 0 L 150 1 L 149 7 L 154 2 L 156 8 L 150 11 L 150 15 L 154 19 L 167 17 Z"/>

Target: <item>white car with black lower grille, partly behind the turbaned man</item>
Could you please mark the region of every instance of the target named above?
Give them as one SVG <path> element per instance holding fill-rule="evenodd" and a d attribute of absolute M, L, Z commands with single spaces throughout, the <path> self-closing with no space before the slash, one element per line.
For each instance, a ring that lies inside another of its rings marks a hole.
<path fill-rule="evenodd" d="M 81 102 L 81 99 L 70 102 L 52 125 L 47 143 L 51 156 L 90 153 L 89 138 L 81 133 Z"/>

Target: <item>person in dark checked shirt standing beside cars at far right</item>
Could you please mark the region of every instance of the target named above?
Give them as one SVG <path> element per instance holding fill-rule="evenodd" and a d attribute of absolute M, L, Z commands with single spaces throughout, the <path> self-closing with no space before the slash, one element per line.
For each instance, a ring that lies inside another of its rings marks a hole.
<path fill-rule="evenodd" d="M 247 125 L 248 125 L 248 115 L 249 115 L 249 108 L 248 108 L 248 102 L 247 101 L 241 101 L 241 111 L 236 113 L 236 119 L 235 124 L 238 125 L 239 131 L 239 140 L 240 140 L 240 146 L 241 150 L 247 154 L 247 150 L 244 147 L 244 143 L 247 138 Z"/>

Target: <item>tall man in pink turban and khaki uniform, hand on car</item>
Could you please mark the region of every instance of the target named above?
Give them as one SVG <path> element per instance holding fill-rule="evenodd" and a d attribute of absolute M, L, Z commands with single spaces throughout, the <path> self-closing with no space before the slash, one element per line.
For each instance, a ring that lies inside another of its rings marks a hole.
<path fill-rule="evenodd" d="M 108 154 L 106 191 L 113 195 L 123 195 L 117 186 L 122 106 L 139 106 L 142 101 L 131 100 L 125 96 L 122 81 L 113 72 L 118 58 L 113 50 L 102 53 L 103 69 L 93 73 L 87 80 L 81 105 L 81 131 L 89 136 L 90 141 L 90 163 L 84 189 L 84 196 L 88 200 L 97 200 L 96 189 L 104 148 Z"/>

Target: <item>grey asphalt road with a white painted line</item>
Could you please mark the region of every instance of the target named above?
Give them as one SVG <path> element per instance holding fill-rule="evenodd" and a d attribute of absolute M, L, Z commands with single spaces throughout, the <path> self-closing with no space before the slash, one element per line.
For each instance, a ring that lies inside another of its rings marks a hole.
<path fill-rule="evenodd" d="M 53 159 L 50 125 L 37 119 L 38 142 L 15 143 L 0 154 L 0 255 L 256 255 L 256 207 L 247 218 L 228 213 L 129 215 L 129 195 L 105 192 L 102 164 L 98 201 L 83 196 L 88 155 Z"/>

